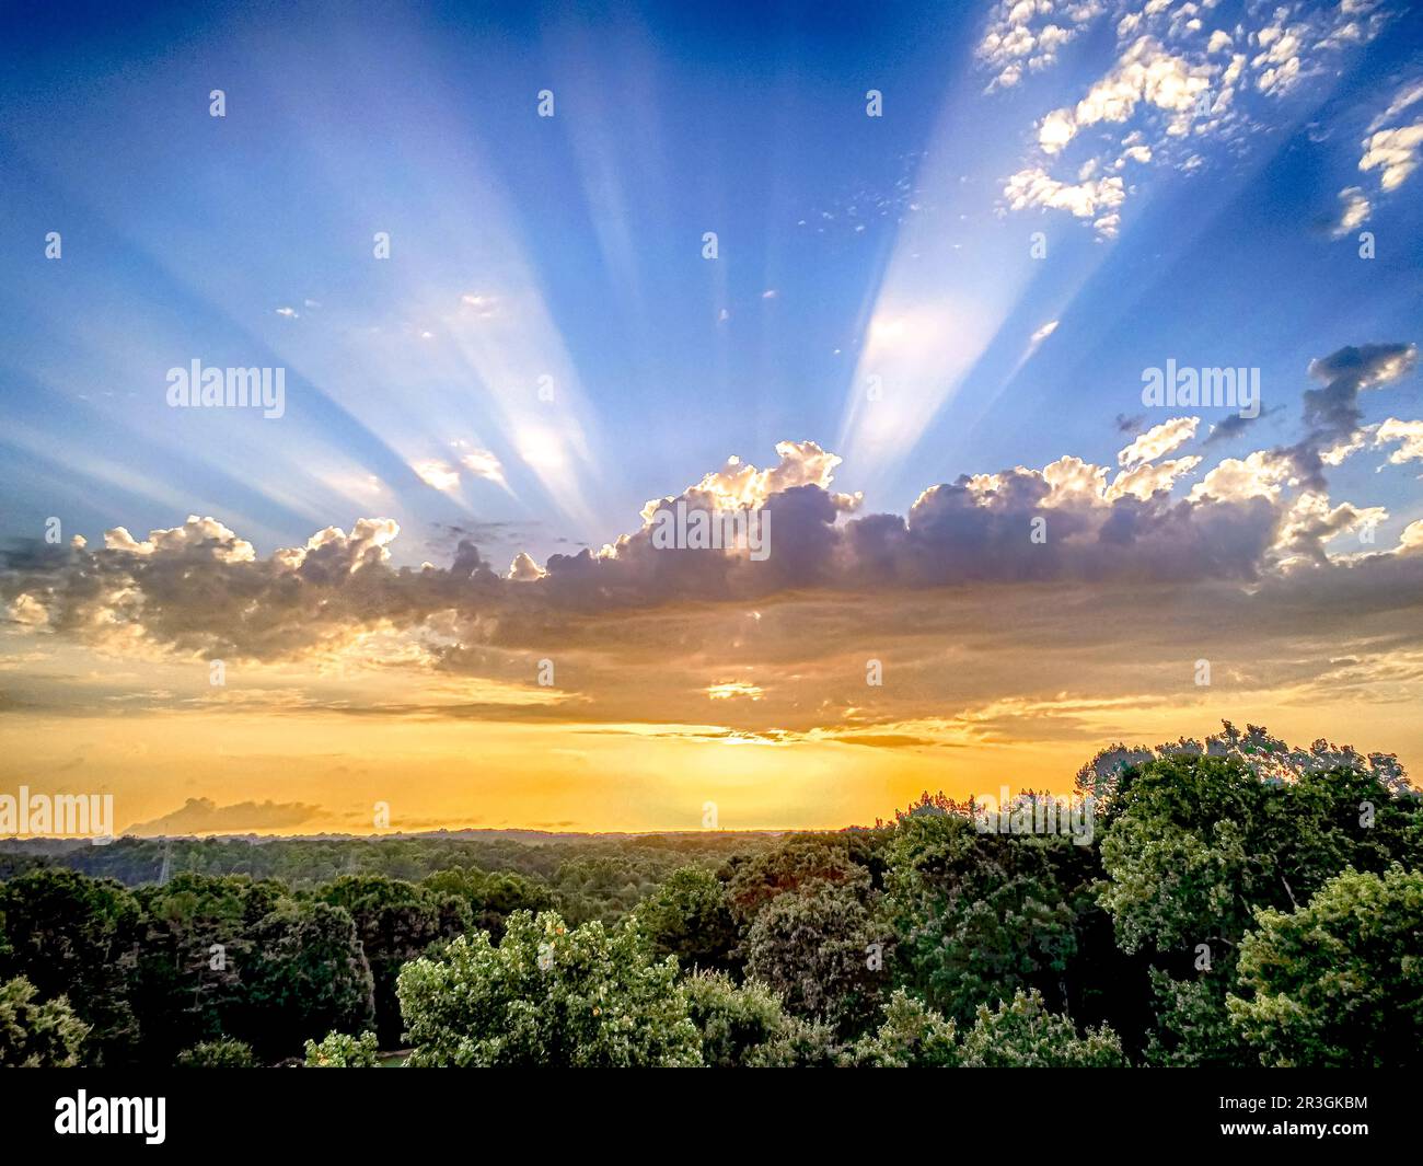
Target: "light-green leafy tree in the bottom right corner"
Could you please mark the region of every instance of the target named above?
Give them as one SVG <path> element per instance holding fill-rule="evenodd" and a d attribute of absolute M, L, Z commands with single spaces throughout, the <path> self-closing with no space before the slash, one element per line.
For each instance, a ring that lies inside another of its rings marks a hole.
<path fill-rule="evenodd" d="M 1423 871 L 1350 868 L 1298 911 L 1255 921 L 1227 1007 L 1262 1065 L 1423 1063 Z"/>

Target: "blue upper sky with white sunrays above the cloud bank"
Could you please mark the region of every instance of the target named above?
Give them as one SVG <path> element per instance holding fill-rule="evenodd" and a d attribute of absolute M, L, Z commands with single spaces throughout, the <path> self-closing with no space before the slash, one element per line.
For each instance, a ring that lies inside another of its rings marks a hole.
<path fill-rule="evenodd" d="M 1222 3 L 1207 31 L 1269 11 Z M 381 513 L 417 527 L 521 521 L 535 550 L 598 545 L 727 454 L 763 464 L 807 438 L 847 457 L 840 485 L 904 508 L 963 473 L 1110 460 L 1113 419 L 1140 411 L 1140 372 L 1167 356 L 1259 366 L 1266 407 L 1286 409 L 1255 436 L 1284 440 L 1311 359 L 1412 339 L 1419 319 L 1410 184 L 1372 199 L 1373 261 L 1323 226 L 1360 182 L 1363 128 L 1417 77 L 1403 13 L 1368 44 L 1305 53 L 1306 80 L 1278 97 L 1242 85 L 1254 124 L 1188 141 L 1191 172 L 1128 164 L 1110 238 L 1069 211 L 1005 211 L 1003 188 L 1044 114 L 1110 71 L 1111 10 L 1010 87 L 982 44 L 1013 26 L 972 6 L 98 13 L 7 30 L 11 534 L 58 495 L 91 537 L 202 503 L 262 545 L 305 537 L 317 508 L 319 525 L 356 517 L 359 490 L 313 495 L 309 476 L 373 474 Z M 1340 20 L 1301 19 L 1321 37 Z M 884 117 L 865 115 L 871 88 Z M 376 231 L 390 261 L 371 258 Z M 499 353 L 451 339 L 471 326 L 462 296 L 505 317 Z M 916 400 L 871 453 L 847 414 L 867 336 L 899 308 L 942 347 L 895 366 Z M 164 372 L 192 357 L 285 364 L 287 417 L 168 410 Z M 585 444 L 551 457 L 576 473 L 525 464 L 539 404 L 559 431 L 575 416 Z M 509 490 L 474 478 L 448 497 L 410 471 L 451 463 L 455 441 L 494 453 Z"/>

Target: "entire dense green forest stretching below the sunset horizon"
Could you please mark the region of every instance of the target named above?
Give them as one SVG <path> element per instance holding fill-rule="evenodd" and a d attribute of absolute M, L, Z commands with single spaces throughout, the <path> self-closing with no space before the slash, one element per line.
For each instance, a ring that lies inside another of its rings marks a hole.
<path fill-rule="evenodd" d="M 6 843 L 0 1065 L 1423 1061 L 1395 757 L 1227 722 L 1077 792 L 1087 846 L 928 793 L 837 833 Z"/>

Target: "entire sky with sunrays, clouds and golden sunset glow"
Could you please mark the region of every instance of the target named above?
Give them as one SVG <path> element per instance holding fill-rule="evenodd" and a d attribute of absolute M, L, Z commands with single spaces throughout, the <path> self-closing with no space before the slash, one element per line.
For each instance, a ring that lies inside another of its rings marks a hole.
<path fill-rule="evenodd" d="M 1416 6 L 569 9 L 6 7 L 0 790 L 840 827 L 1222 719 L 1423 772 Z"/>

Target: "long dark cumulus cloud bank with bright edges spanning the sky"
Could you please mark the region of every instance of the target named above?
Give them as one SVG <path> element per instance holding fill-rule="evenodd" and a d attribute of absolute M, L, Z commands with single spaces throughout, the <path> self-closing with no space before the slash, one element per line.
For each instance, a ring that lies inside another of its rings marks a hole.
<path fill-rule="evenodd" d="M 1315 360 L 1309 372 L 1323 387 L 1305 394 L 1305 437 L 1227 458 L 1184 497 L 1181 483 L 1202 458 L 1165 454 L 1195 436 L 1195 417 L 1140 434 L 1120 451 L 1118 470 L 1064 456 L 1042 468 L 963 474 L 928 487 L 905 514 L 861 513 L 859 495 L 835 490 L 835 454 L 814 441 L 783 441 L 776 464 L 729 458 L 680 494 L 647 503 L 640 528 L 542 567 L 519 554 L 501 574 L 468 538 L 448 567 L 398 567 L 398 525 L 388 518 L 361 518 L 349 534 L 327 527 L 263 558 L 222 522 L 189 517 L 144 540 L 115 528 L 97 550 L 10 552 L 0 598 L 31 634 L 100 646 L 282 661 L 343 652 L 376 635 L 407 636 L 418 651 L 391 659 L 475 672 L 490 666 L 491 652 L 593 635 L 601 615 L 616 616 L 625 636 L 630 614 L 687 605 L 814 594 L 882 599 L 973 584 L 1259 584 L 1328 567 L 1325 544 L 1377 517 L 1329 500 L 1322 454 L 1362 431 L 1358 394 L 1396 382 L 1414 360 L 1416 349 L 1397 343 Z M 1412 460 L 1417 429 L 1390 420 L 1377 441 L 1397 441 L 1393 460 Z M 659 514 L 682 504 L 723 515 L 760 511 L 770 554 L 761 561 L 736 545 L 659 547 Z M 1352 569 L 1379 569 L 1368 562 Z M 649 644 L 665 655 L 666 632 Z"/>

